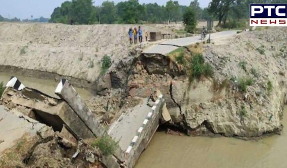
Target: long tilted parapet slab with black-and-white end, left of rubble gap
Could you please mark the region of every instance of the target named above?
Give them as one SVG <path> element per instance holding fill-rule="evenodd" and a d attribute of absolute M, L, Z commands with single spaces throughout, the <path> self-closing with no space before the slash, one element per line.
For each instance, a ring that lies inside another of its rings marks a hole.
<path fill-rule="evenodd" d="M 91 113 L 91 110 L 87 107 L 86 103 L 78 95 L 76 90 L 70 85 L 68 80 L 61 79 L 55 93 L 60 98 L 68 102 L 68 104 L 95 136 L 102 137 L 106 133 L 105 128 Z"/>

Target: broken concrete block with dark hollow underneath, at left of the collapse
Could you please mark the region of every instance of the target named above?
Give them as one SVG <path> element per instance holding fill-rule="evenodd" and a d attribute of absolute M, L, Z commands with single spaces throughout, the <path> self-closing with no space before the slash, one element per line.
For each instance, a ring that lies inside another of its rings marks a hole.
<path fill-rule="evenodd" d="M 29 88 L 12 92 L 11 88 L 5 90 L 4 101 L 30 108 L 36 120 L 53 127 L 54 131 L 60 132 L 63 125 L 67 125 L 77 138 L 94 137 L 67 102 L 47 97 Z"/>

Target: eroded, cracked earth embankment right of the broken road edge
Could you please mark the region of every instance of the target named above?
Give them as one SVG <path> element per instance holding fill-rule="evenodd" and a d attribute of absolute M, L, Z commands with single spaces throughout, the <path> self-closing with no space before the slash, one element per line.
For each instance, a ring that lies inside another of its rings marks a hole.
<path fill-rule="evenodd" d="M 204 60 L 214 73 L 192 82 L 190 67 L 175 65 L 163 55 L 153 59 L 142 55 L 129 80 L 130 94 L 144 97 L 155 88 L 160 90 L 172 123 L 190 134 L 256 137 L 280 133 L 287 97 L 286 41 L 287 29 L 273 28 L 204 44 Z M 191 50 L 200 47 L 195 46 Z M 185 50 L 188 54 L 187 62 L 194 57 Z"/>

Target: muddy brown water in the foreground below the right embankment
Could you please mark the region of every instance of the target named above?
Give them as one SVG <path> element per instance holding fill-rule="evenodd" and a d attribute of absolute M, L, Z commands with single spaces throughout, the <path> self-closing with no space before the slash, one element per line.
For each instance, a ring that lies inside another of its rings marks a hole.
<path fill-rule="evenodd" d="M 287 105 L 281 135 L 259 141 L 228 137 L 188 137 L 156 132 L 136 168 L 287 167 Z"/>

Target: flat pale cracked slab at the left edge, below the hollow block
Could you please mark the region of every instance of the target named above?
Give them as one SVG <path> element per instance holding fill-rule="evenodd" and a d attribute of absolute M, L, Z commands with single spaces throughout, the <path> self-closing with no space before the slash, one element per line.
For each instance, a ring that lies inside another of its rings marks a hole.
<path fill-rule="evenodd" d="M 16 145 L 17 139 L 25 136 L 36 136 L 37 131 L 45 127 L 36 120 L 23 116 L 17 111 L 7 111 L 0 105 L 0 153 Z"/>

